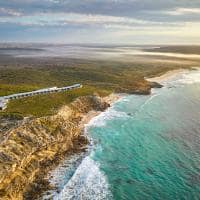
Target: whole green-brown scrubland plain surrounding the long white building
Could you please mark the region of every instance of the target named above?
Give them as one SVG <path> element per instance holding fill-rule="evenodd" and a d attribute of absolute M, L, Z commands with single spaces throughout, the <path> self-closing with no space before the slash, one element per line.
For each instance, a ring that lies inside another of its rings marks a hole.
<path fill-rule="evenodd" d="M 5 67 L 6 65 L 6 67 Z M 0 96 L 32 91 L 45 87 L 62 87 L 75 83 L 84 85 L 70 92 L 39 95 L 10 101 L 3 114 L 17 113 L 24 116 L 54 114 L 62 105 L 84 95 L 112 91 L 133 93 L 149 87 L 144 77 L 162 74 L 183 67 L 183 64 L 131 63 L 66 60 L 14 60 L 0 63 Z"/>

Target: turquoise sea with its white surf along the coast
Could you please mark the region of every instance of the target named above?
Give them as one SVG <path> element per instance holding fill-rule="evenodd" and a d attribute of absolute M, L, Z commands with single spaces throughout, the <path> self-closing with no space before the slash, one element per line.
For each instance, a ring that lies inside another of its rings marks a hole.
<path fill-rule="evenodd" d="M 200 71 L 163 84 L 88 124 L 94 148 L 58 199 L 200 199 Z"/>

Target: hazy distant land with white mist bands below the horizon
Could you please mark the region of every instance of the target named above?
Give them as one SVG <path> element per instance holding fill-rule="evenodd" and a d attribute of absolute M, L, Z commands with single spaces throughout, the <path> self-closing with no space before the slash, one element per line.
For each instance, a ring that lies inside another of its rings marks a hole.
<path fill-rule="evenodd" d="M 112 61 L 200 60 L 200 46 L 1 43 L 0 56 Z"/>

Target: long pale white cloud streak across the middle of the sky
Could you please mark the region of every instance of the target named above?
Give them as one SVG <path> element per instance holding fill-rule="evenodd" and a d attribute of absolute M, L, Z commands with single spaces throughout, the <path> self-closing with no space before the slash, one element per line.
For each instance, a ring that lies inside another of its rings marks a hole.
<path fill-rule="evenodd" d="M 103 25 L 103 24 L 126 24 L 126 25 L 157 25 L 160 22 L 151 22 L 129 17 L 117 17 L 108 15 L 78 14 L 78 13 L 41 13 L 19 17 L 0 17 L 2 23 L 16 23 L 21 25 Z"/>

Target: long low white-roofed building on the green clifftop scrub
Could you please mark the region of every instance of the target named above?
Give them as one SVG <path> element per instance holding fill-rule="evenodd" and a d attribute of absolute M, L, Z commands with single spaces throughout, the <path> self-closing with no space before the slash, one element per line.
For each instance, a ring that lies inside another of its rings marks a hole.
<path fill-rule="evenodd" d="M 0 110 L 6 109 L 6 105 L 7 105 L 9 100 L 25 98 L 25 97 L 41 95 L 41 94 L 63 92 L 63 91 L 68 91 L 68 90 L 81 88 L 81 87 L 82 87 L 81 84 L 75 84 L 75 85 L 71 85 L 71 86 L 67 86 L 67 87 L 61 87 L 61 88 L 57 88 L 57 87 L 44 88 L 44 89 L 35 90 L 35 91 L 32 91 L 32 92 L 23 92 L 23 93 L 8 95 L 8 96 L 2 96 L 2 97 L 0 97 Z"/>

